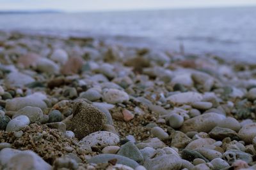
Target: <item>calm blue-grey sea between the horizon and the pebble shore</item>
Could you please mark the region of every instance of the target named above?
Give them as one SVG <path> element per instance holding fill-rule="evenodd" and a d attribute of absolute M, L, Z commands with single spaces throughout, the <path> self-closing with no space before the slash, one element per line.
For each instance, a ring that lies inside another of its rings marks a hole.
<path fill-rule="evenodd" d="M 256 61 L 256 7 L 0 15 L 0 29 L 103 36 L 132 46 Z"/>

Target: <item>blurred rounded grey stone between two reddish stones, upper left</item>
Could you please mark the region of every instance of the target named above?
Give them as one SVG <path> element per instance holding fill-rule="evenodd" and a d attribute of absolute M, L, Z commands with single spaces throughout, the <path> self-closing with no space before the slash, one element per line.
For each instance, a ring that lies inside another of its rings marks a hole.
<path fill-rule="evenodd" d="M 43 73 L 56 74 L 60 72 L 60 66 L 47 58 L 40 58 L 36 62 L 36 69 Z"/>

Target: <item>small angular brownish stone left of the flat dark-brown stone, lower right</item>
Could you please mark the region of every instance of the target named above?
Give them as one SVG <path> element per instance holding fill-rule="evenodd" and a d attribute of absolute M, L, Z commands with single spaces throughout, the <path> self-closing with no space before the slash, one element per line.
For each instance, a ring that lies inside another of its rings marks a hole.
<path fill-rule="evenodd" d="M 185 148 L 192 139 L 188 138 L 186 134 L 180 131 L 175 131 L 171 134 L 172 143 L 171 146 L 175 148 Z"/>

